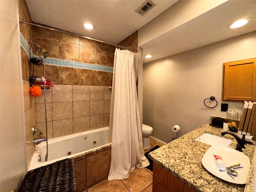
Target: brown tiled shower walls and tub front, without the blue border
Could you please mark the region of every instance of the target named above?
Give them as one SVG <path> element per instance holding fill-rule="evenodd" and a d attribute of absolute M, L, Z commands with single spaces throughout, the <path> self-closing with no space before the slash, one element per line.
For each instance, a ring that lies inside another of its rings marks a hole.
<path fill-rule="evenodd" d="M 33 23 L 25 0 L 19 0 L 19 17 Z M 45 77 L 54 86 L 46 89 L 48 138 L 56 138 L 108 126 L 115 46 L 40 27 L 20 24 L 22 80 L 26 127 L 27 168 L 34 153 L 32 126 L 45 133 L 44 90 L 30 95 L 29 77 L 43 76 L 42 66 L 30 64 L 28 40 L 52 54 L 46 59 Z M 138 31 L 119 43 L 138 49 Z M 36 46 L 33 46 L 36 55 Z M 34 67 L 34 68 L 33 68 Z M 33 73 L 34 69 L 34 73 Z M 106 146 L 74 158 L 77 191 L 105 179 L 110 168 Z"/>

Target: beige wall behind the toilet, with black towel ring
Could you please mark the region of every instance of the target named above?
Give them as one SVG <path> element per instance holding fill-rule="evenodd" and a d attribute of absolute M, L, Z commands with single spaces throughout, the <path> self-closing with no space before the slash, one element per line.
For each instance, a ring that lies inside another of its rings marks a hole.
<path fill-rule="evenodd" d="M 222 64 L 256 57 L 256 32 L 196 48 L 143 65 L 143 123 L 153 127 L 152 136 L 170 142 L 171 128 L 180 136 L 206 124 L 211 115 L 226 117 L 222 103 Z M 204 106 L 215 96 L 216 108 Z M 242 102 L 228 103 L 241 114 Z"/>

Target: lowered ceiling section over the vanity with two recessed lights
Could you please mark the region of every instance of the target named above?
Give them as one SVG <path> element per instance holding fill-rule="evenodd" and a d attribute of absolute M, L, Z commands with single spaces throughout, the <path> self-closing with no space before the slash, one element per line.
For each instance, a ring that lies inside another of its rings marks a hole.
<path fill-rule="evenodd" d="M 240 28 L 229 28 L 244 17 L 252 19 Z M 256 31 L 256 0 L 230 0 L 140 47 L 144 55 L 153 55 L 144 58 L 147 63 L 253 31 Z"/>

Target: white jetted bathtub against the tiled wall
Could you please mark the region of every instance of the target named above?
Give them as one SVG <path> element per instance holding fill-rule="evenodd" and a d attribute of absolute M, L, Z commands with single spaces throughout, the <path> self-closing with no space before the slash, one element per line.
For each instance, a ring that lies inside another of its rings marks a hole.
<path fill-rule="evenodd" d="M 72 158 L 107 145 L 109 145 L 108 127 L 48 139 L 48 161 L 44 162 L 46 142 L 41 142 L 36 145 L 28 170 Z"/>

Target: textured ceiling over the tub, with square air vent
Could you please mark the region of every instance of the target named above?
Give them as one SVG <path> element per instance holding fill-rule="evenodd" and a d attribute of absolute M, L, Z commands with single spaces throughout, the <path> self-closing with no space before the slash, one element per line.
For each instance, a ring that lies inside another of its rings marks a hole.
<path fill-rule="evenodd" d="M 154 0 L 144 16 L 135 10 L 145 0 L 26 0 L 34 22 L 104 42 L 117 44 L 162 13 L 177 0 Z M 91 22 L 94 30 L 82 24 Z"/>

